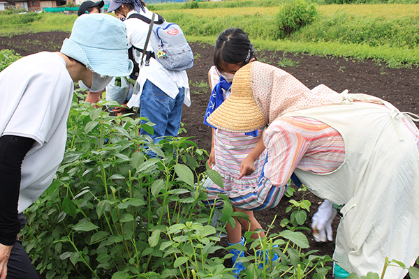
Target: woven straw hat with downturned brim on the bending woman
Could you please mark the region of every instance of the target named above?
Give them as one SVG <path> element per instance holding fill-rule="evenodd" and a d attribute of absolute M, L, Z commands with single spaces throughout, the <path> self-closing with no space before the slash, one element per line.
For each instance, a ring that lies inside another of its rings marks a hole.
<path fill-rule="evenodd" d="M 229 132 L 245 133 L 267 125 L 251 89 L 251 65 L 237 70 L 230 96 L 208 117 L 212 126 Z"/>

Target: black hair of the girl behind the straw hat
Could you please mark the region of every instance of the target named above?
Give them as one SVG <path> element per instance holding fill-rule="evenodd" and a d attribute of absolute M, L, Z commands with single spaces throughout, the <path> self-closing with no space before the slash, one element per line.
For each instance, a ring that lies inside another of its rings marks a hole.
<path fill-rule="evenodd" d="M 214 46 L 214 65 L 223 71 L 225 63 L 241 64 L 250 62 L 255 56 L 255 49 L 250 43 L 249 34 L 239 28 L 230 28 L 219 34 Z"/>

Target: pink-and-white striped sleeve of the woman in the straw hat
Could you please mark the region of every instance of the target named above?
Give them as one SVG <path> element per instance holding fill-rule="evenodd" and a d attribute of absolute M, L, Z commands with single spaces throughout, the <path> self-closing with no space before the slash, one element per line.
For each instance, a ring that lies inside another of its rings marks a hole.
<path fill-rule="evenodd" d="M 344 162 L 343 138 L 321 121 L 281 117 L 271 123 L 263 137 L 265 146 L 270 146 L 265 176 L 277 187 L 285 185 L 295 168 L 324 174 Z"/>

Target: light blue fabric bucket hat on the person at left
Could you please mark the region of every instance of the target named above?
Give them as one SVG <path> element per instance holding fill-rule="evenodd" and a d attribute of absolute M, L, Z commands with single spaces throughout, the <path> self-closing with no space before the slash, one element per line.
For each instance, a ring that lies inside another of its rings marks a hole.
<path fill-rule="evenodd" d="M 133 70 L 125 24 L 112 15 L 78 17 L 60 52 L 100 75 L 124 77 Z"/>

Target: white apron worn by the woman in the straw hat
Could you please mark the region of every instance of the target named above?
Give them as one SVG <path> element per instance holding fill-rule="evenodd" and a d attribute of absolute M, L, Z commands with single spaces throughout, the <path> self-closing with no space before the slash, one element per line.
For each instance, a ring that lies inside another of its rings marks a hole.
<path fill-rule="evenodd" d="M 385 103 L 391 111 L 374 103 Z M 419 153 L 402 122 L 406 116 L 390 103 L 364 94 L 347 94 L 340 105 L 284 116 L 316 119 L 344 139 L 345 160 L 334 172 L 295 169 L 312 193 L 345 204 L 333 255 L 337 264 L 358 276 L 369 271 L 381 275 L 385 257 L 412 266 L 419 255 Z M 385 278 L 403 278 L 406 273 L 390 266 Z"/>

